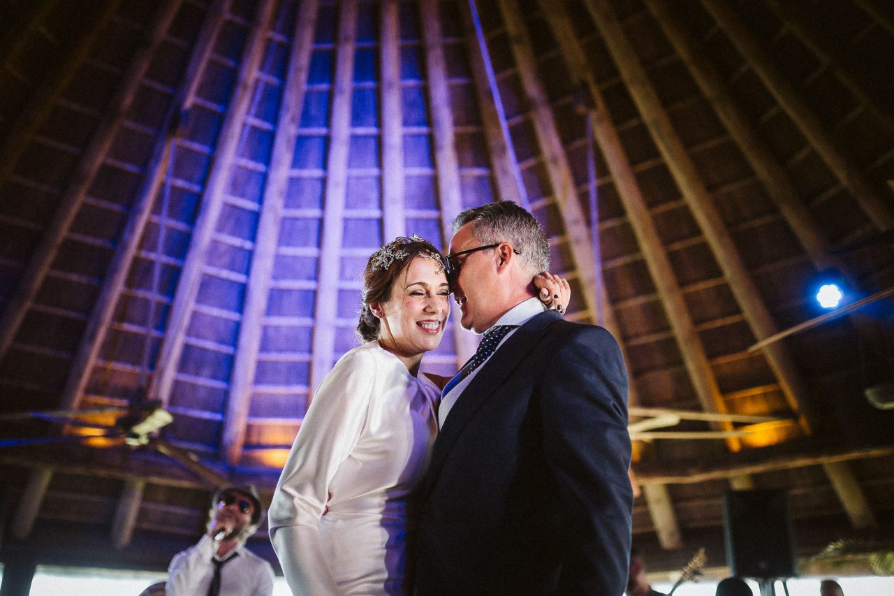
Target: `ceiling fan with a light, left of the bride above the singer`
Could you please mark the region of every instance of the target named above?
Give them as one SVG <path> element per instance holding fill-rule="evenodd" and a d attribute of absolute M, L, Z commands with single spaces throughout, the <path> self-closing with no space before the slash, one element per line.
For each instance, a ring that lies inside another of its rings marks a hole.
<path fill-rule="evenodd" d="M 109 423 L 109 419 L 112 419 Z M 148 447 L 170 457 L 208 484 L 229 484 L 221 473 L 181 447 L 157 436 L 157 431 L 173 422 L 173 415 L 158 402 L 135 401 L 130 405 L 97 406 L 80 410 L 33 411 L 0 414 L 0 422 L 46 421 L 60 425 L 58 434 L 38 437 L 0 438 L 0 448 L 27 447 L 54 443 L 85 443 L 89 447 Z"/>

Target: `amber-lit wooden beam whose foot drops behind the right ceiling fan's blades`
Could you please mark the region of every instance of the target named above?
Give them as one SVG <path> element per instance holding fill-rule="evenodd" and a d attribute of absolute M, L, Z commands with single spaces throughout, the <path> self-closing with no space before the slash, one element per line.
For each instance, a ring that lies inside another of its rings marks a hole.
<path fill-rule="evenodd" d="M 572 77 L 588 89 L 592 98 L 596 139 L 602 148 L 606 165 L 624 205 L 628 222 L 636 234 L 646 267 L 658 288 L 659 298 L 667 313 L 666 318 L 671 325 L 673 336 L 677 340 L 679 352 L 683 357 L 689 378 L 692 379 L 698 401 L 705 412 L 727 413 L 729 410 L 721 394 L 710 359 L 704 351 L 696 324 L 677 283 L 671 260 L 662 246 L 661 234 L 658 233 L 645 203 L 645 198 L 639 188 L 633 167 L 626 157 L 618 131 L 611 123 L 611 116 L 605 105 L 602 92 L 596 84 L 583 48 L 578 43 L 565 4 L 541 0 L 540 5 L 541 12 L 550 22 L 553 37 L 559 43 L 562 55 L 564 55 L 566 63 L 569 64 Z M 713 426 L 721 430 L 732 430 L 733 428 L 730 422 L 715 423 Z M 735 437 L 727 438 L 727 444 L 733 450 L 738 450 L 740 447 L 740 442 Z M 679 532 L 677 540 L 679 540 Z"/>

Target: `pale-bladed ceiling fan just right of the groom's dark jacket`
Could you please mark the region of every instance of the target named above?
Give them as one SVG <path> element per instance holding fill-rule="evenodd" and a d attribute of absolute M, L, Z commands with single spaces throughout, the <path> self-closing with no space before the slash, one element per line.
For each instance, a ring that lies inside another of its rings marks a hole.
<path fill-rule="evenodd" d="M 705 422 L 739 422 L 758 424 L 761 422 L 780 421 L 772 416 L 756 416 L 734 413 L 693 412 L 691 410 L 674 410 L 670 408 L 648 408 L 631 405 L 628 407 L 631 418 L 641 420 L 628 424 L 628 432 L 632 440 L 651 441 L 656 438 L 674 439 L 711 439 L 744 437 L 755 429 L 737 430 L 659 430 L 676 426 L 680 421 L 694 420 Z"/>

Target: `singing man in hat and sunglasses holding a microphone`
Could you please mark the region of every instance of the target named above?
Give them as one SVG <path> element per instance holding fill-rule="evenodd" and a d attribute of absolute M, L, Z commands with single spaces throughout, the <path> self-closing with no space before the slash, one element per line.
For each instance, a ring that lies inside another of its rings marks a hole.
<path fill-rule="evenodd" d="M 230 486 L 215 492 L 207 533 L 168 566 L 167 596 L 269 596 L 274 570 L 245 548 L 264 509 L 253 486 Z"/>

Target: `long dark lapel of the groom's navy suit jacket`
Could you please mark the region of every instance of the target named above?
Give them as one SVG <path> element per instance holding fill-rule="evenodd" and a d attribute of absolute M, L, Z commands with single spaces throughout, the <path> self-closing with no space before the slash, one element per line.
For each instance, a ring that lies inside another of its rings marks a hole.
<path fill-rule="evenodd" d="M 561 315 L 555 311 L 546 311 L 536 315 L 497 348 L 497 351 L 477 371 L 475 378 L 471 380 L 468 387 L 463 390 L 456 403 L 453 404 L 450 414 L 434 442 L 432 463 L 426 477 L 426 490 L 430 490 L 434 486 L 434 480 L 441 472 L 444 459 L 472 415 L 489 396 L 492 396 L 502 386 L 512 371 L 518 367 L 519 362 L 524 360 L 527 353 L 536 347 L 546 328 L 560 319 Z"/>

